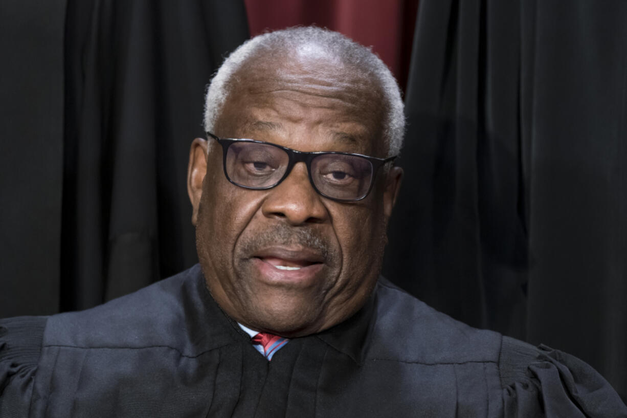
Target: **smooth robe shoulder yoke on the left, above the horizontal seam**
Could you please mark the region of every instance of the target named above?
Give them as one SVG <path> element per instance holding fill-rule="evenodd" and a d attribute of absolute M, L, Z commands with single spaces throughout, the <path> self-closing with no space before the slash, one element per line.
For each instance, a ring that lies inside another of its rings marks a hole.
<path fill-rule="evenodd" d="M 199 265 L 137 292 L 80 312 L 51 316 L 45 347 L 77 349 L 171 348 L 182 356 L 211 350 L 199 344 L 208 291 Z"/>

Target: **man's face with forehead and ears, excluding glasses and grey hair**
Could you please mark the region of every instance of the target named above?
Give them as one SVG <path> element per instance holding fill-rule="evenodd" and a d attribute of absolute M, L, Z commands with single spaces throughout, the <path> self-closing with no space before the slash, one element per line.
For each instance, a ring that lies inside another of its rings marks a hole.
<path fill-rule="evenodd" d="M 387 156 L 375 83 L 320 56 L 272 59 L 238 72 L 214 134 Z M 325 330 L 361 308 L 381 267 L 401 169 L 381 169 L 364 200 L 340 203 L 312 188 L 304 163 L 269 190 L 233 185 L 221 147 L 207 149 L 202 139 L 192 144 L 188 186 L 199 259 L 219 306 L 253 330 L 288 337 Z"/>

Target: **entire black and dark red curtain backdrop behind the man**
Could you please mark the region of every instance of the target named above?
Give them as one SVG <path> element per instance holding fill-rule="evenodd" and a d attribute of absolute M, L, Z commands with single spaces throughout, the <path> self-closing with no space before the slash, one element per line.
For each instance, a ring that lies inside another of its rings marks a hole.
<path fill-rule="evenodd" d="M 0 316 L 87 308 L 196 262 L 204 86 L 249 25 L 317 23 L 407 84 L 384 274 L 581 357 L 627 399 L 627 4 L 313 4 L 0 4 Z"/>

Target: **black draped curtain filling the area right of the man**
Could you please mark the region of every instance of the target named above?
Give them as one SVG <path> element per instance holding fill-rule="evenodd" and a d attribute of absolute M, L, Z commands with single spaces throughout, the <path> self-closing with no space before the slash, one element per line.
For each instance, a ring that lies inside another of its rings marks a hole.
<path fill-rule="evenodd" d="M 422 0 L 385 272 L 627 399 L 627 3 Z"/>

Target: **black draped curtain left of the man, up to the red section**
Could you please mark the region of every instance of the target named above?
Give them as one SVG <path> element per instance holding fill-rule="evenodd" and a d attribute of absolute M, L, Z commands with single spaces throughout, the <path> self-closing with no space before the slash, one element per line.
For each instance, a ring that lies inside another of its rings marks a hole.
<path fill-rule="evenodd" d="M 89 308 L 196 262 L 186 171 L 243 1 L 0 5 L 0 316 Z"/>

